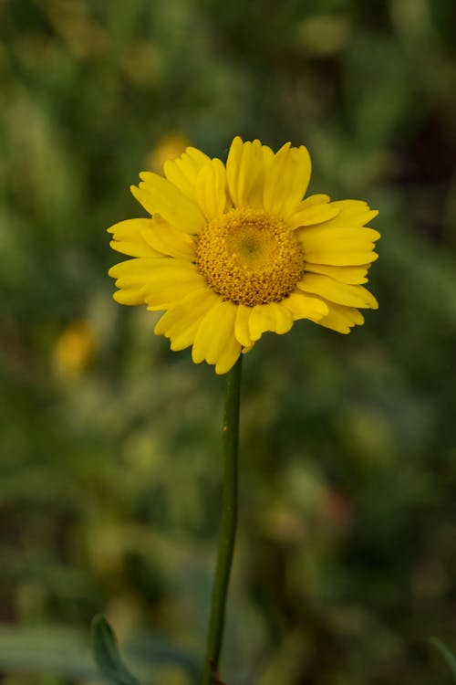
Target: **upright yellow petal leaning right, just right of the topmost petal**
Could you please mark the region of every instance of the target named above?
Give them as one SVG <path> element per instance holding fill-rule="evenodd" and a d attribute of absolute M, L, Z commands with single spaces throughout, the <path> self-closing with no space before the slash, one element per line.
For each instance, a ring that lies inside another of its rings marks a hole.
<path fill-rule="evenodd" d="M 305 195 L 311 174 L 310 155 L 304 147 L 283 145 L 264 174 L 264 209 L 287 218 Z"/>

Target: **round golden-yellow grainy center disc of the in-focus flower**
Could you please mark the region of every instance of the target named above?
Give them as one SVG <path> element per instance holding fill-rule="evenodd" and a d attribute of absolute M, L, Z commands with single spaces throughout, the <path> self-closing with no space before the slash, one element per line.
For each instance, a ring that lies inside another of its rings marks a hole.
<path fill-rule="evenodd" d="M 304 273 L 304 253 L 279 219 L 232 209 L 197 237 L 196 266 L 223 300 L 254 307 L 291 294 Z"/>

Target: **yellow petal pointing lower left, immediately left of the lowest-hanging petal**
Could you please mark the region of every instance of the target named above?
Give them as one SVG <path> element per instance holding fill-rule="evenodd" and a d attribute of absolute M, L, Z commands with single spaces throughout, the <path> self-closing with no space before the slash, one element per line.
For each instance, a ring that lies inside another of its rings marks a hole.
<path fill-rule="evenodd" d="M 207 287 L 193 290 L 175 307 L 166 311 L 156 323 L 156 335 L 171 340 L 171 350 L 184 350 L 192 345 L 202 316 L 219 300 Z"/>

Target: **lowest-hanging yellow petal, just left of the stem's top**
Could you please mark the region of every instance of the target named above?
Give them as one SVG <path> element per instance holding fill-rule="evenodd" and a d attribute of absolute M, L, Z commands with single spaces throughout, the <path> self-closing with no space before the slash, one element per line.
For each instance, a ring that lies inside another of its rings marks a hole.
<path fill-rule="evenodd" d="M 225 363 L 226 346 L 229 358 L 233 356 L 233 350 L 237 350 L 239 356 L 241 344 L 234 339 L 235 317 L 236 305 L 220 298 L 203 316 L 192 347 L 192 360 L 195 364 L 200 364 L 204 359 L 208 364 Z M 233 341 L 235 345 L 232 344 Z"/>

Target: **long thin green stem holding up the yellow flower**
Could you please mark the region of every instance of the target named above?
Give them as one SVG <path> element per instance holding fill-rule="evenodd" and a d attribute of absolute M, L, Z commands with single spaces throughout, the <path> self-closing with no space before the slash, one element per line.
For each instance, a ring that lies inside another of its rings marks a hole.
<path fill-rule="evenodd" d="M 218 680 L 217 670 L 222 649 L 226 595 L 233 561 L 237 523 L 237 448 L 239 437 L 239 397 L 241 390 L 242 355 L 226 376 L 223 414 L 223 493 L 222 522 L 215 578 L 212 587 L 211 617 L 207 637 L 202 685 Z"/>

